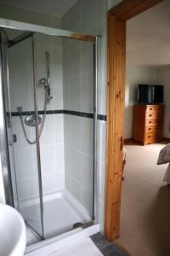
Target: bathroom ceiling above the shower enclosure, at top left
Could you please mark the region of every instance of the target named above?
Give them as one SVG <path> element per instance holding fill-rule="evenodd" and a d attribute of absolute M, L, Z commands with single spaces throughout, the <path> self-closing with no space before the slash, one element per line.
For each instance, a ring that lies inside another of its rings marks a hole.
<path fill-rule="evenodd" d="M 77 0 L 0 0 L 0 3 L 62 17 Z"/>

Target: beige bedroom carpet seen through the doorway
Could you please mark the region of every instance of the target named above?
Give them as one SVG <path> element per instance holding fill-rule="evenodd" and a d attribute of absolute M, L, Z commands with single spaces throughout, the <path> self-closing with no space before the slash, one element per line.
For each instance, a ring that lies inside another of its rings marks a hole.
<path fill-rule="evenodd" d="M 128 145 L 122 183 L 119 244 L 132 256 L 170 255 L 170 187 L 167 165 L 156 166 L 163 144 Z"/>

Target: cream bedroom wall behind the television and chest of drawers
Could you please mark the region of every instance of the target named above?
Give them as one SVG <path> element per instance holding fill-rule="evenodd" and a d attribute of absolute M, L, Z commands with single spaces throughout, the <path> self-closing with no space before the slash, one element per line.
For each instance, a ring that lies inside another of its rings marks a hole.
<path fill-rule="evenodd" d="M 163 136 L 170 137 L 170 65 L 147 67 L 129 64 L 126 71 L 124 137 L 133 137 L 133 105 L 137 103 L 138 84 L 164 85 Z"/>

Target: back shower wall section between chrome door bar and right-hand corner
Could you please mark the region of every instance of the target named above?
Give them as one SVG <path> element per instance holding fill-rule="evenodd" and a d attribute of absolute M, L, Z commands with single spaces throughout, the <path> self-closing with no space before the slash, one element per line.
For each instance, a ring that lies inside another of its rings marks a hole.
<path fill-rule="evenodd" d="M 45 52 L 49 53 L 51 96 L 48 110 L 63 109 L 63 59 L 62 39 L 47 35 L 37 35 L 37 80 L 47 77 Z M 44 90 L 38 96 L 38 109 L 43 109 Z M 42 166 L 42 188 L 44 194 L 65 189 L 64 163 L 64 121 L 63 113 L 48 114 L 42 137 L 40 155 Z"/>

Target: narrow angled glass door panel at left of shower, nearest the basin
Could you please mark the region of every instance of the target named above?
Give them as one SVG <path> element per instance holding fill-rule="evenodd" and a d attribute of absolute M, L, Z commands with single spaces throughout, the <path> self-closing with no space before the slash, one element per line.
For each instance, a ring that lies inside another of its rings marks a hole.
<path fill-rule="evenodd" d="M 35 123 L 31 38 L 8 48 L 8 80 L 11 117 L 11 146 L 8 140 L 8 147 L 14 150 L 14 162 L 10 160 L 10 166 L 12 174 L 15 167 L 19 210 L 26 223 L 42 236 L 36 126 L 26 125 L 26 117 Z"/>

